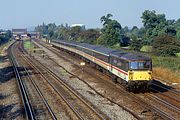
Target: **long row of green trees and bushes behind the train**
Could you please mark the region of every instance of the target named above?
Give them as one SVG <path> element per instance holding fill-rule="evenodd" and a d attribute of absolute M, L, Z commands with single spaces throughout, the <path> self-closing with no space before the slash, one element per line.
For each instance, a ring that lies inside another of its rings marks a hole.
<path fill-rule="evenodd" d="M 149 46 L 152 53 L 162 56 L 176 56 L 180 52 L 180 19 L 167 20 L 165 14 L 145 10 L 141 16 L 143 27 L 133 26 L 130 29 L 127 26 L 122 27 L 112 17 L 112 14 L 107 14 L 100 18 L 102 29 L 43 23 L 35 30 L 48 39 L 78 41 L 112 48 L 128 47 L 135 51 Z"/>

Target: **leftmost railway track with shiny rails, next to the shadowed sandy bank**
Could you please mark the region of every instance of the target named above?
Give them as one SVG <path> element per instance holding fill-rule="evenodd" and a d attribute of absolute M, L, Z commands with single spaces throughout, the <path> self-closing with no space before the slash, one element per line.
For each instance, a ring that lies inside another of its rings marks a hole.
<path fill-rule="evenodd" d="M 35 80 L 32 78 L 30 71 L 27 69 L 27 66 L 24 66 L 24 64 L 22 64 L 22 58 L 20 57 L 21 56 L 20 54 L 22 53 L 18 51 L 19 47 L 20 47 L 19 44 L 17 44 L 16 42 L 12 50 L 16 51 L 16 54 L 14 55 L 14 60 L 18 61 L 17 63 L 19 67 L 18 68 L 19 74 L 21 77 L 22 84 L 24 86 L 24 90 L 26 91 L 28 103 L 31 106 L 31 112 L 33 114 L 33 118 L 28 117 L 28 119 L 45 119 L 46 118 L 46 119 L 56 120 L 57 118 L 54 115 L 54 112 L 52 111 L 49 104 L 47 103 L 47 100 L 45 99 L 44 95 L 40 91 Z"/>

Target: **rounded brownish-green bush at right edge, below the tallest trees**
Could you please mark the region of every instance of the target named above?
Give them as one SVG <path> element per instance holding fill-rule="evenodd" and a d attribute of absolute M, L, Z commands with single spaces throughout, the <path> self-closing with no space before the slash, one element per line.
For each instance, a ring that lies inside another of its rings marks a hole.
<path fill-rule="evenodd" d="M 153 42 L 153 52 L 161 56 L 175 56 L 180 52 L 180 41 L 172 35 L 160 35 Z"/>

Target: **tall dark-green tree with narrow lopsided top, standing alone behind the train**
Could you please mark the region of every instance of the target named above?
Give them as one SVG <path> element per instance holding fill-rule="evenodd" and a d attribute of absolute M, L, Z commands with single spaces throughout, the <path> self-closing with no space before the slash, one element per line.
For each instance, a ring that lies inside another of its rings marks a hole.
<path fill-rule="evenodd" d="M 101 30 L 102 34 L 97 40 L 97 44 L 105 46 L 120 44 L 121 25 L 118 21 L 110 19 L 110 17 L 112 17 L 112 15 L 107 14 L 100 19 L 103 23 L 103 28 Z"/>

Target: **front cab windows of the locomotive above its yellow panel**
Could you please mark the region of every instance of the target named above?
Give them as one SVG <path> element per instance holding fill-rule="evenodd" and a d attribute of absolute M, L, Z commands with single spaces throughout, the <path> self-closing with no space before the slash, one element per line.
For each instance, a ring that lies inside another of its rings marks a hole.
<path fill-rule="evenodd" d="M 151 70 L 151 61 L 130 62 L 130 69 L 132 69 L 132 70 Z"/>

